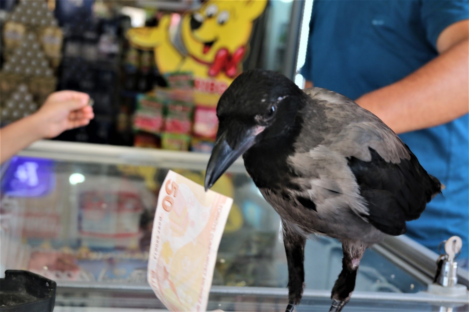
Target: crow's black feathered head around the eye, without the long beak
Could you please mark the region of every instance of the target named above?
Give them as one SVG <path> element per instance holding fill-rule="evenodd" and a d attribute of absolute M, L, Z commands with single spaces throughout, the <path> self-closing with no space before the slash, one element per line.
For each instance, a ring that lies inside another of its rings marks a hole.
<path fill-rule="evenodd" d="M 305 94 L 282 74 L 255 69 L 239 75 L 220 97 L 217 106 L 217 138 L 236 149 L 243 132 L 256 135 L 256 143 L 285 134 L 298 111 L 299 97 Z"/>

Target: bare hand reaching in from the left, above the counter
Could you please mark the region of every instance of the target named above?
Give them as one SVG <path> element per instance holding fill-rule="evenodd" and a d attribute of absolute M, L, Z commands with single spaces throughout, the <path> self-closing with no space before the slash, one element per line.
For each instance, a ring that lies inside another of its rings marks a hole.
<path fill-rule="evenodd" d="M 83 92 L 64 90 L 52 93 L 31 116 L 40 125 L 41 137 L 53 138 L 65 130 L 88 125 L 94 118 L 89 100 L 90 96 Z"/>

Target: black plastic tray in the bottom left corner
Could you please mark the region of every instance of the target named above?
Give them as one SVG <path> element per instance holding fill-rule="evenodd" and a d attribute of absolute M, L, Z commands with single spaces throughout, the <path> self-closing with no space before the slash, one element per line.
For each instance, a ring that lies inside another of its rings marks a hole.
<path fill-rule="evenodd" d="M 0 278 L 0 312 L 52 312 L 57 284 L 41 275 L 7 270 Z"/>

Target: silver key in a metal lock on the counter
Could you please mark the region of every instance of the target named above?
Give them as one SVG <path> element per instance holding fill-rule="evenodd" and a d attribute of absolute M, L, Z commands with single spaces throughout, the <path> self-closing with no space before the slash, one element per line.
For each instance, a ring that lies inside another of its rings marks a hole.
<path fill-rule="evenodd" d="M 441 286 L 453 287 L 458 283 L 458 263 L 454 260 L 461 253 L 462 240 L 459 236 L 452 236 L 443 241 L 439 248 L 442 244 L 445 244 L 445 253 L 442 253 L 437 260 L 437 273 L 433 282 Z"/>

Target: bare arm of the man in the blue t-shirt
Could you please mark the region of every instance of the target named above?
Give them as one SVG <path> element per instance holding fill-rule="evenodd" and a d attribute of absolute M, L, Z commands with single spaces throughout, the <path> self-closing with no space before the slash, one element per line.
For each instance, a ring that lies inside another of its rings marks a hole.
<path fill-rule="evenodd" d="M 449 122 L 469 111 L 469 20 L 448 26 L 438 57 L 398 82 L 356 99 L 396 133 Z"/>

